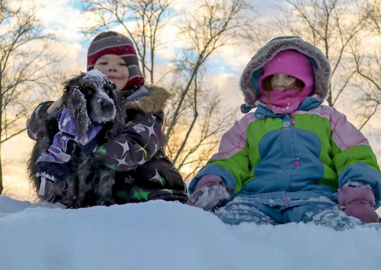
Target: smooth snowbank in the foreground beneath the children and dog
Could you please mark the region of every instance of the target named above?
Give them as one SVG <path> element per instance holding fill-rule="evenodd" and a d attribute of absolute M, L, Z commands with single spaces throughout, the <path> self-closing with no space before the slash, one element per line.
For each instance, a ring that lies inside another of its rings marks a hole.
<path fill-rule="evenodd" d="M 381 269 L 373 228 L 228 225 L 159 200 L 59 206 L 0 195 L 1 269 Z"/>

